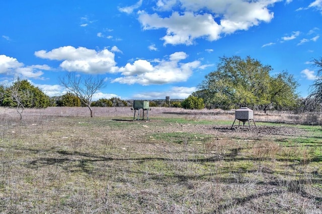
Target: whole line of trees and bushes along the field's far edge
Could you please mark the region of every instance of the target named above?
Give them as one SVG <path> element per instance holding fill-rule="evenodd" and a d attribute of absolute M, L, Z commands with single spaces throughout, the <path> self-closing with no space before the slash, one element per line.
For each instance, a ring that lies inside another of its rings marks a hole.
<path fill-rule="evenodd" d="M 217 69 L 208 73 L 193 92 L 182 102 L 173 106 L 185 109 L 237 109 L 248 106 L 255 110 L 293 110 L 297 112 L 321 111 L 322 103 L 322 57 L 314 59 L 317 77 L 310 86 L 306 98 L 296 92 L 298 82 L 287 71 L 271 75 L 270 65 L 239 56 L 220 57 Z M 117 97 L 92 101 L 94 93 L 105 87 L 104 79 L 91 75 L 80 76 L 68 72 L 60 83 L 66 88 L 61 96 L 49 97 L 28 80 L 18 78 L 9 86 L 0 85 L 0 106 L 16 108 L 20 116 L 24 108 L 47 108 L 48 106 L 87 106 L 93 117 L 92 106 L 127 106 Z M 151 102 L 153 105 L 153 102 Z M 22 116 L 21 116 L 22 117 Z"/>

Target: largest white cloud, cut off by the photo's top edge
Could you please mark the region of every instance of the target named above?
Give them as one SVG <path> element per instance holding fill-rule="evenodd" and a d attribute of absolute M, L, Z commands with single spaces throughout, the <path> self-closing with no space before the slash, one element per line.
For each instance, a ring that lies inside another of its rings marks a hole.
<path fill-rule="evenodd" d="M 222 35 L 248 30 L 261 22 L 270 22 L 274 14 L 268 8 L 279 1 L 159 0 L 156 11 L 171 11 L 181 6 L 181 12 L 163 17 L 161 13 L 147 14 L 140 11 L 138 20 L 144 30 L 167 29 L 167 34 L 161 38 L 164 45 L 192 45 L 198 38 L 215 41 Z M 207 12 L 204 12 L 205 8 Z"/>

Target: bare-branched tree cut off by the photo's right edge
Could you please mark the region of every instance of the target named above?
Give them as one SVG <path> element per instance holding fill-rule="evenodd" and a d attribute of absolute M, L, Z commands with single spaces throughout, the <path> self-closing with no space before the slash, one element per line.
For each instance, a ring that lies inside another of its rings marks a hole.
<path fill-rule="evenodd" d="M 316 103 L 322 103 L 322 57 L 313 59 L 313 66 L 318 67 L 316 79 L 310 86 L 309 98 L 313 98 Z"/>

